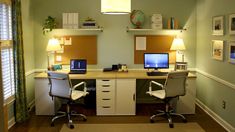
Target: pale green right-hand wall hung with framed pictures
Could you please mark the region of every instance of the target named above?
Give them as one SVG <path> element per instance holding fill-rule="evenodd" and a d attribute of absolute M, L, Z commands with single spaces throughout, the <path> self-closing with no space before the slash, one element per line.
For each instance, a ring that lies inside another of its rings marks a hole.
<path fill-rule="evenodd" d="M 228 63 L 228 42 L 234 40 L 234 36 L 228 33 L 228 16 L 235 13 L 234 5 L 235 1 L 231 0 L 197 0 L 196 67 L 232 84 L 235 84 L 235 65 Z M 212 17 L 219 15 L 225 17 L 225 35 L 212 36 Z M 211 57 L 211 40 L 214 39 L 225 41 L 223 61 Z M 235 127 L 235 118 L 231 116 L 235 111 L 235 89 L 201 75 L 197 80 L 197 98 Z M 222 100 L 227 103 L 225 110 L 221 108 Z"/>

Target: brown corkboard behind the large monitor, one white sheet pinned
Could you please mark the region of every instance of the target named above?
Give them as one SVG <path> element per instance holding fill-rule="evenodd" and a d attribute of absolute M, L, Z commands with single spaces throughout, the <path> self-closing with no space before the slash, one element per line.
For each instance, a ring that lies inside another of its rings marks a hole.
<path fill-rule="evenodd" d="M 136 50 L 136 37 L 146 37 L 146 50 Z M 175 63 L 176 52 L 170 50 L 173 39 L 167 35 L 135 35 L 134 63 L 143 64 L 144 53 L 169 53 L 169 63 Z"/>

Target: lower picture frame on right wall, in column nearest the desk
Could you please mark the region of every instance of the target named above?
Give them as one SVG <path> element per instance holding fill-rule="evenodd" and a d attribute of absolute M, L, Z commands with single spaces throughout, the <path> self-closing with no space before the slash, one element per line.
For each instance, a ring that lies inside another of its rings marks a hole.
<path fill-rule="evenodd" d="M 223 61 L 224 57 L 224 41 L 212 40 L 212 58 Z"/>

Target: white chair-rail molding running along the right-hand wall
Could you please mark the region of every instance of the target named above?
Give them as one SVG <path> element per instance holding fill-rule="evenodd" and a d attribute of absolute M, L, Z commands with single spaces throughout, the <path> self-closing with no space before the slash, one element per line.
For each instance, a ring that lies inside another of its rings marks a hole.
<path fill-rule="evenodd" d="M 228 87 L 230 87 L 230 88 L 235 89 L 235 84 L 233 84 L 233 83 L 230 83 L 230 82 L 228 82 L 228 81 L 226 81 L 226 80 L 223 80 L 223 79 L 221 79 L 221 78 L 218 78 L 218 77 L 216 77 L 216 76 L 214 76 L 214 75 L 211 75 L 211 74 L 209 74 L 209 73 L 207 73 L 207 72 L 204 72 L 204 71 L 201 71 L 201 70 L 199 70 L 199 69 L 197 69 L 196 71 L 197 71 L 198 73 L 200 73 L 200 74 L 202 74 L 202 75 L 204 75 L 204 76 L 210 78 L 210 79 L 213 79 L 213 80 L 215 80 L 215 81 L 217 81 L 217 82 L 219 82 L 219 83 L 221 83 L 221 84 L 224 84 L 224 85 L 226 85 L 226 86 L 228 86 Z"/>

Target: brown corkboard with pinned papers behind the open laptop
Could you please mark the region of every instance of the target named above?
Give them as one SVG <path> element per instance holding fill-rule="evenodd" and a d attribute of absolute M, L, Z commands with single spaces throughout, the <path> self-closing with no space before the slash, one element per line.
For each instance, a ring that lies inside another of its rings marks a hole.
<path fill-rule="evenodd" d="M 97 64 L 97 36 L 60 36 L 69 40 L 72 45 L 64 45 L 63 53 L 55 53 L 55 62 L 60 64 L 70 64 L 70 59 L 86 59 L 87 64 Z M 62 61 L 56 61 L 56 56 L 61 56 Z"/>

